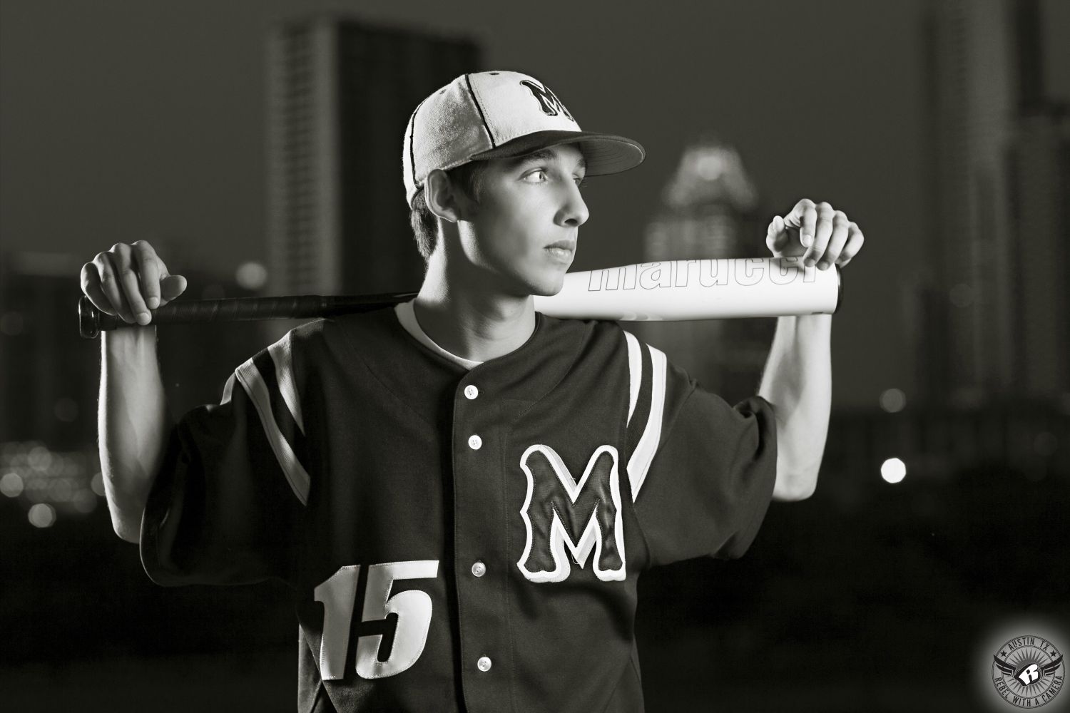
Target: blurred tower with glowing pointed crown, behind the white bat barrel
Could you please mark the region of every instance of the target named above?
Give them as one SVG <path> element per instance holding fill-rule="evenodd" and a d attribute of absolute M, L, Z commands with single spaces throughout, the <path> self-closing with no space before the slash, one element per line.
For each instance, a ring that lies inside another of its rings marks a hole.
<path fill-rule="evenodd" d="M 759 196 L 738 152 L 714 137 L 685 149 L 647 226 L 643 259 L 749 258 L 764 250 Z M 758 389 L 770 320 L 648 322 L 636 331 L 704 387 L 730 401 Z"/>

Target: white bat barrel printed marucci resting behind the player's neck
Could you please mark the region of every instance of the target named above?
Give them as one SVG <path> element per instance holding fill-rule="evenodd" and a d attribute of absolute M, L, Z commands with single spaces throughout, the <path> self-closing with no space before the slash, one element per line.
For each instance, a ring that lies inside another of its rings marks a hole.
<path fill-rule="evenodd" d="M 831 314 L 840 269 L 801 258 L 671 260 L 565 276 L 561 292 L 535 297 L 556 317 L 626 322 Z"/>

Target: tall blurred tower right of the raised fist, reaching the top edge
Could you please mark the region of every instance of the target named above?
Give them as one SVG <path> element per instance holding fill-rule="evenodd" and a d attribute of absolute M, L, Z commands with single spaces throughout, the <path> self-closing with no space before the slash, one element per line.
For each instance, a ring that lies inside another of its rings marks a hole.
<path fill-rule="evenodd" d="M 923 352 L 919 383 L 937 391 L 924 394 L 934 401 L 977 403 L 1015 378 L 1009 19 L 1004 0 L 935 0 L 927 18 L 933 260 L 920 280 L 926 322 L 910 331 Z"/>

